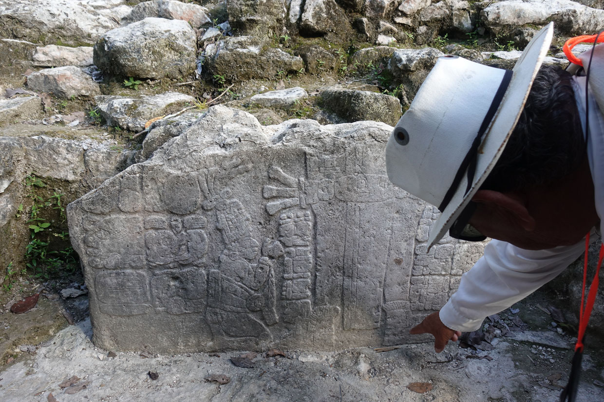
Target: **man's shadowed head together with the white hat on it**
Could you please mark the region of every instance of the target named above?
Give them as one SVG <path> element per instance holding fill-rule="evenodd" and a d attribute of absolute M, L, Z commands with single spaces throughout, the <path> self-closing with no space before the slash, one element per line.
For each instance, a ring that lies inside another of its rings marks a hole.
<path fill-rule="evenodd" d="M 397 123 L 386 149 L 388 177 L 442 212 L 429 246 L 449 229 L 461 234 L 471 218 L 484 235 L 545 248 L 567 244 L 591 219 L 593 208 L 568 197 L 569 191 L 587 194 L 591 186 L 568 74 L 549 68 L 538 74 L 552 36 L 550 23 L 510 71 L 440 57 Z M 495 227 L 478 219 L 485 206 Z M 551 206 L 556 208 L 550 211 Z M 585 216 L 577 215 L 577 208 Z M 570 237 L 554 234 L 555 222 L 563 227 L 577 222 L 577 228 L 568 231 Z M 524 232 L 516 239 L 518 228 Z M 480 234 L 467 237 L 479 240 Z"/>

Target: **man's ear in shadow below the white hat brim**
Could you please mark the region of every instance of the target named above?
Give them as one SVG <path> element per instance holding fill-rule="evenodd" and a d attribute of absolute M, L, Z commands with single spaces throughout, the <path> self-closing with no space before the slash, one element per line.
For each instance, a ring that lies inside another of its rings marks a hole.
<path fill-rule="evenodd" d="M 516 193 L 500 193 L 492 190 L 478 190 L 472 201 L 483 204 L 487 209 L 506 215 L 525 231 L 535 230 L 535 219 L 528 212 L 524 198 Z"/>

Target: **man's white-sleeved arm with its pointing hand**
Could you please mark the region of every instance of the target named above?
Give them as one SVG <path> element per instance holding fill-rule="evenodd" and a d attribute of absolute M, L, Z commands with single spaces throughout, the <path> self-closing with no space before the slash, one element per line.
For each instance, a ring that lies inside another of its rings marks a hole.
<path fill-rule="evenodd" d="M 597 240 L 597 236 L 592 237 Z M 551 281 L 585 249 L 585 241 L 548 250 L 524 250 L 492 240 L 483 257 L 464 273 L 460 287 L 439 313 L 432 313 L 410 333 L 431 333 L 442 351 L 460 331 L 475 331 L 485 317 L 510 307 Z"/>

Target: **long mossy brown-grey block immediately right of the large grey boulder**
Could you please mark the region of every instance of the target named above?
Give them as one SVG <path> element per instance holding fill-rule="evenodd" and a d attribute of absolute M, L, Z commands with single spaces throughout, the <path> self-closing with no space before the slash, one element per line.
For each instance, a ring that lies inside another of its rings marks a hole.
<path fill-rule="evenodd" d="M 205 67 L 226 79 L 275 78 L 279 71 L 296 72 L 304 67 L 299 56 L 268 48 L 266 40 L 251 36 L 224 37 L 205 48 Z"/>

